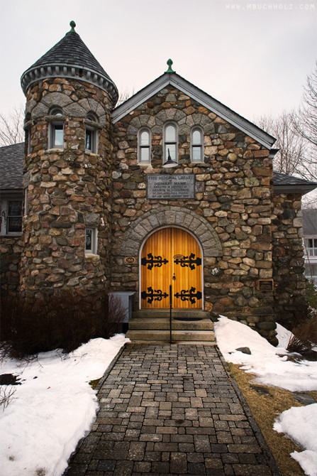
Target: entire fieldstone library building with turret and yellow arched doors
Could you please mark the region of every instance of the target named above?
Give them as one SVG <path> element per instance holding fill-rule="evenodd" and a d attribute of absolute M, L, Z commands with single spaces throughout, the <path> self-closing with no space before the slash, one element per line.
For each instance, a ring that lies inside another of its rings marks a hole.
<path fill-rule="evenodd" d="M 23 185 L 22 145 L 1 150 L 2 292 L 128 292 L 131 337 L 160 339 L 172 286 L 179 319 L 201 319 L 177 338 L 210 339 L 221 313 L 276 342 L 305 301 L 301 195 L 317 184 L 273 173 L 275 139 L 171 60 L 116 107 L 71 26 L 21 78 Z"/>

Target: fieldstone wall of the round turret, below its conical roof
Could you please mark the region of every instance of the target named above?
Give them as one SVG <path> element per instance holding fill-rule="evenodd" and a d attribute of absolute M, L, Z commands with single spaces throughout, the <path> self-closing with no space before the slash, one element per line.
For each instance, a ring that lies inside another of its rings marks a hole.
<path fill-rule="evenodd" d="M 94 294 L 109 277 L 111 128 L 108 94 L 85 82 L 50 79 L 27 94 L 26 129 L 30 153 L 24 187 L 28 214 L 23 222 L 21 293 L 54 293 L 58 288 Z M 52 107 L 61 117 L 50 116 Z M 87 121 L 94 113 L 97 123 Z M 49 148 L 50 123 L 64 124 L 64 148 Z M 98 153 L 85 151 L 86 125 L 99 134 Z M 98 254 L 85 255 L 85 227 L 97 225 Z"/>

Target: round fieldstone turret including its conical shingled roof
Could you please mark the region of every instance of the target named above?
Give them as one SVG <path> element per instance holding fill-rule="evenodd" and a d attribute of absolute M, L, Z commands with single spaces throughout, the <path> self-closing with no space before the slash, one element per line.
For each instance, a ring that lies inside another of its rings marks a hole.
<path fill-rule="evenodd" d="M 21 294 L 109 283 L 111 109 L 116 86 L 74 23 L 22 76 L 26 93 Z"/>

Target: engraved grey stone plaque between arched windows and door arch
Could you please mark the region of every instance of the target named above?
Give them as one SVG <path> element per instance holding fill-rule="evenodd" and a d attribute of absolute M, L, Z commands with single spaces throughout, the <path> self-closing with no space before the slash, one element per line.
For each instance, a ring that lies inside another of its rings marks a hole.
<path fill-rule="evenodd" d="M 175 175 L 148 175 L 147 198 L 150 200 L 177 200 L 195 198 L 194 173 Z"/>

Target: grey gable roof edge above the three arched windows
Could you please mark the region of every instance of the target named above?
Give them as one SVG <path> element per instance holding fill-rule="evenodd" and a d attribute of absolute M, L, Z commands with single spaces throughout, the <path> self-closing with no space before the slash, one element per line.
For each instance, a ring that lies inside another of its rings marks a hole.
<path fill-rule="evenodd" d="M 276 141 L 274 137 L 267 134 L 267 132 L 262 131 L 260 127 L 255 126 L 255 124 L 252 124 L 248 119 L 240 116 L 232 109 L 229 109 L 224 104 L 217 101 L 217 99 L 214 99 L 206 92 L 200 90 L 199 87 L 192 85 L 191 82 L 185 80 L 184 77 L 177 75 L 176 72 L 165 72 L 162 76 L 157 77 L 156 80 L 151 82 L 150 85 L 143 87 L 143 90 L 140 90 L 120 104 L 120 106 L 116 107 L 116 109 L 113 109 L 113 123 L 115 124 L 120 121 L 120 119 L 132 112 L 133 109 L 140 106 L 140 104 L 143 104 L 143 102 L 150 99 L 150 97 L 167 85 L 177 87 L 179 91 L 182 91 L 192 99 L 195 99 L 201 105 L 217 114 L 217 116 L 225 119 L 230 124 L 240 129 L 240 131 L 245 132 L 245 134 L 248 134 L 252 139 L 258 141 L 262 146 L 271 148 Z"/>

